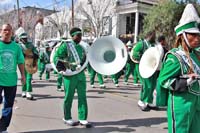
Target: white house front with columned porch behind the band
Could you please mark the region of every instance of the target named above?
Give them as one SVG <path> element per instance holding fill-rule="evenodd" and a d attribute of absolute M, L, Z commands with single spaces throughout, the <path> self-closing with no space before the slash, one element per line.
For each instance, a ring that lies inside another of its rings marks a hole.
<path fill-rule="evenodd" d="M 116 37 L 132 34 L 133 41 L 137 42 L 138 35 L 142 32 L 144 16 L 157 3 L 157 0 L 118 0 L 113 19 L 116 26 L 113 26 L 112 34 Z"/>

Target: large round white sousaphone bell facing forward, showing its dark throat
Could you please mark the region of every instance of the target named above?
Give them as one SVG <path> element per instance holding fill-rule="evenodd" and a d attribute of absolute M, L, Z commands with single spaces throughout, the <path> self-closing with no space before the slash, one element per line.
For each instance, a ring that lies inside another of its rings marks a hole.
<path fill-rule="evenodd" d="M 103 75 L 116 74 L 127 62 L 127 49 L 118 38 L 105 36 L 97 39 L 88 50 L 92 68 Z"/>

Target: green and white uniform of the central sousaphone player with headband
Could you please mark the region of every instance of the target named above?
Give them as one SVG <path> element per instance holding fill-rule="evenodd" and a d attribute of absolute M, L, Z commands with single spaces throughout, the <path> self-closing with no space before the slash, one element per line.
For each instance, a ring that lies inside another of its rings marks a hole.
<path fill-rule="evenodd" d="M 69 43 L 69 42 L 68 42 Z M 84 50 L 79 45 L 76 44 L 74 41 L 70 42 L 74 48 L 76 49 L 80 60 L 82 61 L 84 58 Z M 74 62 L 75 59 L 70 54 L 69 45 L 66 42 L 63 42 L 60 47 L 55 52 L 54 56 L 54 63 L 61 60 L 68 60 L 69 62 Z M 75 90 L 78 94 L 78 117 L 79 120 L 86 120 L 88 114 L 88 107 L 87 107 L 87 100 L 86 100 L 86 76 L 84 71 L 73 75 L 73 76 L 64 76 L 64 90 L 65 90 L 65 98 L 64 98 L 64 119 L 69 120 L 71 119 L 71 107 L 72 101 L 74 97 Z"/>

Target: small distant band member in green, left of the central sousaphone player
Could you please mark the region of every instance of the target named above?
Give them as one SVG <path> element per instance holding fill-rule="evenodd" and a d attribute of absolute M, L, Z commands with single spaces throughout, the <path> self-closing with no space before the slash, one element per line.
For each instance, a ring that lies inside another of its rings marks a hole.
<path fill-rule="evenodd" d="M 50 63 L 50 55 L 51 55 L 51 47 L 49 46 L 49 44 L 46 43 L 44 47 L 45 47 L 45 50 L 40 53 L 39 60 L 38 60 L 40 62 L 39 63 L 39 68 L 40 68 L 39 77 L 40 77 L 40 80 L 42 80 L 42 74 L 46 70 L 46 64 Z M 45 79 L 48 81 L 49 78 L 50 78 L 50 71 L 46 70 Z"/>

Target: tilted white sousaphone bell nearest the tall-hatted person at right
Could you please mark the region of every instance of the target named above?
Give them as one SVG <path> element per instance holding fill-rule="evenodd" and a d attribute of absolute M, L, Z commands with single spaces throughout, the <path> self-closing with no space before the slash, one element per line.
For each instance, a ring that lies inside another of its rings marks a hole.
<path fill-rule="evenodd" d="M 161 44 L 156 44 L 155 47 L 148 48 L 139 63 L 139 72 L 143 78 L 151 77 L 156 70 L 160 70 L 162 65 L 162 57 L 164 50 Z"/>

